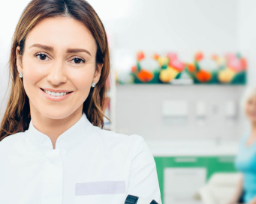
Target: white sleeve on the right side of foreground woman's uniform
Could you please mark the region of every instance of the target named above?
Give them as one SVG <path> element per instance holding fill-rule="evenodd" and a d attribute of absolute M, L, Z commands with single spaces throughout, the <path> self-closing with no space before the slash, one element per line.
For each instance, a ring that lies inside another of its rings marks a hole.
<path fill-rule="evenodd" d="M 143 137 L 139 135 L 132 136 L 135 139 L 128 182 L 128 194 L 155 200 L 158 204 L 161 204 L 154 157 Z"/>

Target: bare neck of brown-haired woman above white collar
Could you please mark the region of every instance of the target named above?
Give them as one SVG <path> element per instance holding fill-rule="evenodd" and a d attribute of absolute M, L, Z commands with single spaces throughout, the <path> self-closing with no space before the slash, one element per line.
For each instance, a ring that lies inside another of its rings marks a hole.
<path fill-rule="evenodd" d="M 50 137 L 50 140 L 53 143 L 53 149 L 55 149 L 56 140 L 59 135 L 62 135 L 62 133 L 70 129 L 78 120 L 80 120 L 82 117 L 82 110 L 78 108 L 73 114 L 62 119 L 45 117 L 36 111 L 31 111 L 31 117 L 35 129 L 38 129 L 39 132 Z"/>

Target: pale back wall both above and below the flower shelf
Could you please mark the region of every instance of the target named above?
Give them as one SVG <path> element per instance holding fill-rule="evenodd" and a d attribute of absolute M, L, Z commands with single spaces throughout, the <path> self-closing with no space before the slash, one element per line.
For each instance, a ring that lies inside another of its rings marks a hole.
<path fill-rule="evenodd" d="M 128 16 L 105 22 L 107 29 L 112 28 L 114 57 L 124 49 L 128 50 L 126 53 L 174 51 L 186 60 L 192 60 L 197 51 L 239 51 L 238 1 L 131 0 L 130 3 L 133 6 Z M 119 68 L 121 65 L 113 66 Z M 242 114 L 239 112 L 236 122 L 229 126 L 224 117 L 224 104 L 233 100 L 240 111 L 238 104 L 243 90 L 244 87 L 221 86 L 119 86 L 116 90 L 116 131 L 143 135 L 148 140 L 237 140 L 245 127 Z M 164 100 L 173 99 L 189 103 L 188 121 L 182 126 L 173 125 L 170 119 L 161 115 Z M 194 115 L 197 100 L 206 101 L 208 115 L 204 126 L 197 125 Z M 218 108 L 218 114 L 212 112 L 214 107 Z"/>

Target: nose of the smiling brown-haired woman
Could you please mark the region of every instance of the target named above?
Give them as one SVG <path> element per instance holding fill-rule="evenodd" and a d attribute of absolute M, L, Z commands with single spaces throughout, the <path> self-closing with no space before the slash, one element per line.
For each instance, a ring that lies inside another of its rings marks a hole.
<path fill-rule="evenodd" d="M 67 76 L 65 75 L 65 65 L 62 61 L 56 61 L 53 67 L 50 67 L 50 72 L 47 75 L 47 81 L 50 81 L 54 85 L 63 84 L 67 81 Z"/>

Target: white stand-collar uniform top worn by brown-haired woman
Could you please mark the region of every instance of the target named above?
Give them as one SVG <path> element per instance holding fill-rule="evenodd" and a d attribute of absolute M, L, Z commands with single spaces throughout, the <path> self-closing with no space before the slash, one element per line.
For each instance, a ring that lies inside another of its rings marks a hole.
<path fill-rule="evenodd" d="M 1 204 L 161 204 L 155 161 L 143 137 L 102 130 L 86 118 L 56 140 L 29 124 L 0 142 Z"/>

